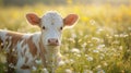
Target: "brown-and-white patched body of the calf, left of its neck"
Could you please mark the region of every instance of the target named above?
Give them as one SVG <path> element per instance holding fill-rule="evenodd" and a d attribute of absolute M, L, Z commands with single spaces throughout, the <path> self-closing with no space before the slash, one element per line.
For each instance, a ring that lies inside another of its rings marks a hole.
<path fill-rule="evenodd" d="M 39 37 L 40 34 L 0 31 L 1 49 L 4 48 L 8 53 L 9 65 L 15 66 L 17 71 L 29 70 L 35 65 L 35 59 L 41 49 Z"/>

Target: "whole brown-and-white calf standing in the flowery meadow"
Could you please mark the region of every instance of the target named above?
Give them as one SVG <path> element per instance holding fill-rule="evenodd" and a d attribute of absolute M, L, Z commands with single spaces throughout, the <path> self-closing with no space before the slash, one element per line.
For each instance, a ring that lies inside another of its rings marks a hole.
<path fill-rule="evenodd" d="M 78 15 L 69 14 L 62 19 L 57 12 L 47 12 L 40 19 L 34 13 L 28 13 L 26 19 L 32 25 L 37 25 L 40 32 L 21 34 L 0 31 L 0 50 L 7 51 L 8 64 L 14 65 L 16 73 L 31 73 L 38 58 L 41 59 L 44 68 L 55 73 L 61 60 L 59 47 L 62 29 L 64 26 L 73 25 L 78 21 Z M 9 66 L 8 72 L 11 73 L 12 70 Z"/>

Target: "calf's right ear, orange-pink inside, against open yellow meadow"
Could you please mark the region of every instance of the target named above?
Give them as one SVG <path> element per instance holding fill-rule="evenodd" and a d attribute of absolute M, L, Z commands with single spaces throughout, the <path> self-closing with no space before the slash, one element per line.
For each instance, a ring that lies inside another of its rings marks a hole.
<path fill-rule="evenodd" d="M 63 24 L 66 26 L 71 26 L 78 21 L 79 16 L 76 14 L 69 14 L 67 17 L 63 19 Z"/>

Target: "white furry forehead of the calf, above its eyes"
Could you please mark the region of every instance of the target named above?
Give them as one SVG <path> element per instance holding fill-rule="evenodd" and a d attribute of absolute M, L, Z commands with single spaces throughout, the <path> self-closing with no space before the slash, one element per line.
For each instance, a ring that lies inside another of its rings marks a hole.
<path fill-rule="evenodd" d="M 41 17 L 41 26 L 62 26 L 62 17 L 57 12 L 48 12 Z"/>

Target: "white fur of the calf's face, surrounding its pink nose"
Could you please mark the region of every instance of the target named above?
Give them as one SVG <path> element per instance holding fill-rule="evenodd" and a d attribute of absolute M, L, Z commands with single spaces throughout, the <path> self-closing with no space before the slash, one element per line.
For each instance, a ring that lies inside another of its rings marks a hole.
<path fill-rule="evenodd" d="M 45 31 L 41 31 L 41 37 L 44 45 L 48 45 L 48 39 L 56 38 L 61 44 L 60 27 L 63 26 L 63 20 L 57 12 L 48 12 L 41 17 L 41 27 L 45 26 Z"/>

